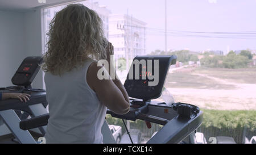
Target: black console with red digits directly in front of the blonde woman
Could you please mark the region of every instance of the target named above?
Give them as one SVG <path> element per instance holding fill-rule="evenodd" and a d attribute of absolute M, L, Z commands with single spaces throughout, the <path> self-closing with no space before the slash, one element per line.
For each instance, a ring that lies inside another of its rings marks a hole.
<path fill-rule="evenodd" d="M 129 97 L 150 100 L 159 98 L 170 65 L 177 56 L 137 56 L 130 66 L 125 81 Z"/>

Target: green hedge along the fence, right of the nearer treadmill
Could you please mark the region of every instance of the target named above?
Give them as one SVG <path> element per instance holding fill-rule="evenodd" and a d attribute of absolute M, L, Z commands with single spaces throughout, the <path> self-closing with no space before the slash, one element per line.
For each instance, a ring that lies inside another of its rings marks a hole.
<path fill-rule="evenodd" d="M 216 136 L 233 137 L 236 143 L 243 143 L 256 135 L 256 111 L 253 110 L 202 110 L 203 124 L 197 131 L 203 132 L 205 138 Z"/>

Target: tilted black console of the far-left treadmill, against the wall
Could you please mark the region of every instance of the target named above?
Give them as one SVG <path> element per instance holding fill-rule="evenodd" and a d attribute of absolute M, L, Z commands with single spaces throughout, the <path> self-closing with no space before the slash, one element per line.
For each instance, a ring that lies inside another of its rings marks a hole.
<path fill-rule="evenodd" d="M 11 82 L 16 86 L 28 87 L 38 74 L 40 64 L 43 62 L 43 57 L 27 57 L 22 61 L 18 70 L 15 72 Z"/>

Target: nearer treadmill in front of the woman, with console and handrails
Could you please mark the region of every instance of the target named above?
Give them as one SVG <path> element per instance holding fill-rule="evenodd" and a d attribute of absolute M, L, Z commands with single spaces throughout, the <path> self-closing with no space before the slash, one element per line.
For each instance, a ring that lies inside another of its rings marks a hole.
<path fill-rule="evenodd" d="M 176 56 L 137 56 L 131 64 L 124 83 L 130 97 L 130 111 L 124 115 L 107 110 L 114 118 L 163 125 L 148 144 L 196 143 L 195 132 L 203 122 L 203 112 L 199 107 L 187 103 L 173 103 L 168 106 L 164 102 L 152 99 L 160 97 L 170 65 L 176 63 Z M 22 120 L 20 128 L 27 130 L 47 125 L 49 115 L 45 114 Z M 102 126 L 104 143 L 115 143 L 108 124 Z"/>

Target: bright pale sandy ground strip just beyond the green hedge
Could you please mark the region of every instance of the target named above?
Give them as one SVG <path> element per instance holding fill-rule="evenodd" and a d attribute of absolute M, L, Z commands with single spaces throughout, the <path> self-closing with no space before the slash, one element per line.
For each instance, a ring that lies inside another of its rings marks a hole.
<path fill-rule="evenodd" d="M 191 74 L 208 78 L 220 85 L 232 85 L 233 89 L 168 87 L 167 89 L 174 96 L 175 102 L 191 103 L 200 108 L 216 110 L 256 110 L 256 84 L 230 82 L 228 79 L 212 77 L 207 74 Z"/>

